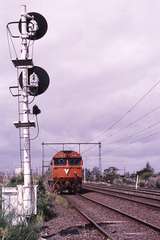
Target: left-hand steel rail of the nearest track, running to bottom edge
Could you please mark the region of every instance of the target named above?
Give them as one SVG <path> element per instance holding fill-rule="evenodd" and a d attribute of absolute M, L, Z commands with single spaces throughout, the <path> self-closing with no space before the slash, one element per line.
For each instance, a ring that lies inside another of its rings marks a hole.
<path fill-rule="evenodd" d="M 81 195 L 80 195 L 81 196 Z M 109 233 L 107 233 L 99 224 L 97 224 L 91 217 L 89 217 L 85 212 L 83 212 L 77 204 L 73 200 L 68 199 L 68 202 L 72 205 L 72 207 L 79 212 L 84 218 L 86 218 L 101 234 L 104 235 L 105 240 L 114 240 L 113 237 Z"/>

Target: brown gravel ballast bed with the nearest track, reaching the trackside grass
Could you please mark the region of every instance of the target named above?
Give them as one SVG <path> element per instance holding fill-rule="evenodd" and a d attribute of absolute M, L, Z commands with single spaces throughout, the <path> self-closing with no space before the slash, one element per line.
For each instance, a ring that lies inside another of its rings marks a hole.
<path fill-rule="evenodd" d="M 160 239 L 160 224 L 148 221 L 142 215 L 135 216 L 132 214 L 134 212 L 127 212 L 126 204 L 126 209 L 111 206 L 104 201 L 102 194 L 88 192 L 59 197 L 67 199 L 68 207 L 61 210 L 59 220 L 55 218 L 48 223 L 46 234 L 44 231 L 41 235 L 42 239 L 66 239 L 65 236 L 68 240 Z"/>

